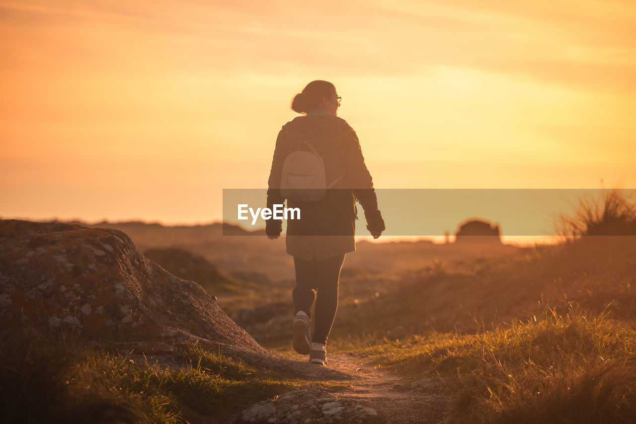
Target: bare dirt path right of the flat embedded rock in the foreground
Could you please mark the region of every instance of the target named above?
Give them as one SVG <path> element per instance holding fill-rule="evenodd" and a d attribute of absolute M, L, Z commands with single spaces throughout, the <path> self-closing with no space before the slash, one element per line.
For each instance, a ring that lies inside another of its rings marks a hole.
<path fill-rule="evenodd" d="M 351 352 L 329 353 L 329 368 L 351 374 L 350 390 L 336 393 L 339 399 L 356 400 L 375 409 L 387 423 L 443 423 L 450 397 L 440 378 L 405 384 L 403 379 L 370 365 Z"/>

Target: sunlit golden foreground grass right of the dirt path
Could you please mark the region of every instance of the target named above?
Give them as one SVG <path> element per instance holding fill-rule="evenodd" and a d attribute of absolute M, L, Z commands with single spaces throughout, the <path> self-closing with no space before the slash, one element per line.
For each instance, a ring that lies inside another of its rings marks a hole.
<path fill-rule="evenodd" d="M 431 333 L 361 349 L 413 380 L 455 381 L 453 422 L 636 420 L 636 326 L 577 307 L 474 335 Z"/>

